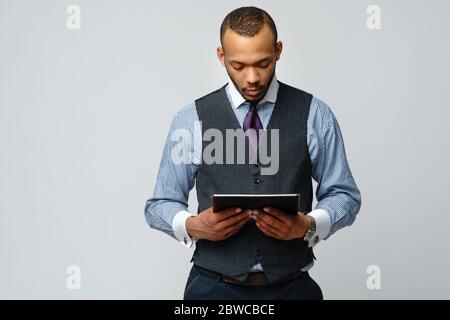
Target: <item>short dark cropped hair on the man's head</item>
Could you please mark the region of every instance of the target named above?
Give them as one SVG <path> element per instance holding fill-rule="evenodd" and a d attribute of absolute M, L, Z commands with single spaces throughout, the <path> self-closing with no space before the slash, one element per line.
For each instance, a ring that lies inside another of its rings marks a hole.
<path fill-rule="evenodd" d="M 220 43 L 223 47 L 223 36 L 231 29 L 241 36 L 253 37 L 267 24 L 274 35 L 274 47 L 277 45 L 277 27 L 272 17 L 264 10 L 256 7 L 241 7 L 231 11 L 220 26 Z"/>

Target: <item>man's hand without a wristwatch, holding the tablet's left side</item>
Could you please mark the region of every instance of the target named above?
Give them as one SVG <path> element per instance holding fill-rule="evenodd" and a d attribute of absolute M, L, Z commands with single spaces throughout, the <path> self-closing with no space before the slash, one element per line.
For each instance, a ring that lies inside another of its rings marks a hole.
<path fill-rule="evenodd" d="M 229 208 L 213 212 L 208 208 L 197 216 L 186 219 L 189 236 L 212 241 L 225 240 L 237 233 L 250 220 L 250 211 L 241 208 Z"/>

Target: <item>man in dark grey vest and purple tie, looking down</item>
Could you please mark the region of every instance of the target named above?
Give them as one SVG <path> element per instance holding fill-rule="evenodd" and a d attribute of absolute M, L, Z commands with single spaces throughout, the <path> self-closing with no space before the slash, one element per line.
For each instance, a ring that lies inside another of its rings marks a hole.
<path fill-rule="evenodd" d="M 322 299 L 308 274 L 312 247 L 351 225 L 361 205 L 339 125 L 324 102 L 277 80 L 283 46 L 267 12 L 238 8 L 225 17 L 220 35 L 217 55 L 229 82 L 176 114 L 146 220 L 187 247 L 195 243 L 185 299 Z M 183 142 L 188 156 L 177 161 L 175 133 L 187 130 L 195 137 L 198 123 L 203 138 Z M 249 145 L 256 133 L 257 150 L 261 133 L 277 131 L 278 144 L 271 146 L 279 153 L 277 172 L 263 175 L 266 164 L 259 158 L 244 164 L 199 160 L 198 151 L 203 157 L 209 148 L 205 135 L 211 129 L 224 136 L 227 129 L 252 133 Z M 314 210 L 311 178 L 318 183 Z M 187 211 L 194 183 L 197 215 Z M 298 193 L 299 212 L 288 215 L 274 207 L 212 212 L 216 193 Z"/>

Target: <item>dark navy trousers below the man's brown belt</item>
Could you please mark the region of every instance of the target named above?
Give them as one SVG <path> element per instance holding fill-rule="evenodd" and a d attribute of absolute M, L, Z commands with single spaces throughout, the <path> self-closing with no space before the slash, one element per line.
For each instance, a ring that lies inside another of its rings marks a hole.
<path fill-rule="evenodd" d="M 264 286 L 239 286 L 224 283 L 220 275 L 192 266 L 184 290 L 185 300 L 322 300 L 322 290 L 309 276 L 286 283 Z"/>

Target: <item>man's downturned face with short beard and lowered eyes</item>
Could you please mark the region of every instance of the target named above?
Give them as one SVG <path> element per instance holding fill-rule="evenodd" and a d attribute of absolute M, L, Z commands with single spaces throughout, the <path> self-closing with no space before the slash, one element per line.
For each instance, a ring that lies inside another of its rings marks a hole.
<path fill-rule="evenodd" d="M 283 49 L 279 41 L 274 48 L 274 35 L 267 25 L 253 37 L 240 36 L 228 29 L 217 56 L 225 66 L 236 88 L 251 102 L 264 98 L 275 73 L 276 61 Z"/>

